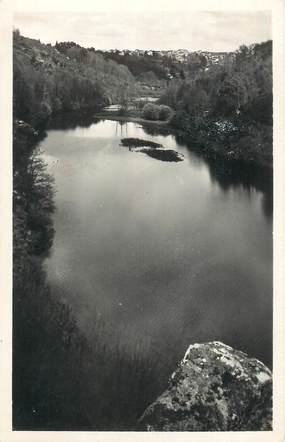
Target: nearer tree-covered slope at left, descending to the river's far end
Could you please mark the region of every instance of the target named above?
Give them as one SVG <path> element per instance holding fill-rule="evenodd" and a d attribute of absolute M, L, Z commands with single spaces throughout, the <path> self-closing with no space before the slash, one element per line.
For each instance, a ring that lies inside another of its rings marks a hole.
<path fill-rule="evenodd" d="M 132 88 L 125 66 L 72 43 L 64 48 L 14 32 L 15 117 L 41 126 L 52 113 L 101 108 Z"/>

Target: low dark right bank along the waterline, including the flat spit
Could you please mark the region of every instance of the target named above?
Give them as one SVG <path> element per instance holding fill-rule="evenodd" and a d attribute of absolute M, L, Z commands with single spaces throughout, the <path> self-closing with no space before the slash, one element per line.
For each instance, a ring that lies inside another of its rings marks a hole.
<path fill-rule="evenodd" d="M 175 114 L 166 121 L 152 121 L 141 118 L 139 112 L 128 115 L 118 112 L 102 111 L 96 118 L 122 123 L 134 122 L 143 127 L 157 128 L 164 133 L 173 134 L 198 155 L 211 160 L 230 163 L 242 162 L 253 167 L 267 169 L 273 173 L 272 126 L 252 123 L 236 118 L 235 120 L 189 119 Z M 184 120 L 183 120 L 184 118 Z"/>

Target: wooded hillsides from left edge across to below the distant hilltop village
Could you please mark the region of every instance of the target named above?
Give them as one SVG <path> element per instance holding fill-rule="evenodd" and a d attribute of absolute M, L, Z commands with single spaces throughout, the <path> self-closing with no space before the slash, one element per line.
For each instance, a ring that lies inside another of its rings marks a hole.
<path fill-rule="evenodd" d="M 225 53 L 110 50 L 75 42 L 43 44 L 14 32 L 14 117 L 44 126 L 61 111 L 99 110 L 134 96 L 163 95 L 173 81 L 192 81 Z"/>

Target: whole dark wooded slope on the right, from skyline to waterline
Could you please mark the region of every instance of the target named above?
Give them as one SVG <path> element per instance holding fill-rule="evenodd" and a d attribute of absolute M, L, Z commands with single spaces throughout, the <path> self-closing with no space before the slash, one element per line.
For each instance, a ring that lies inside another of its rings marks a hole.
<path fill-rule="evenodd" d="M 271 41 L 173 80 L 160 102 L 175 110 L 171 126 L 198 152 L 272 166 Z"/>

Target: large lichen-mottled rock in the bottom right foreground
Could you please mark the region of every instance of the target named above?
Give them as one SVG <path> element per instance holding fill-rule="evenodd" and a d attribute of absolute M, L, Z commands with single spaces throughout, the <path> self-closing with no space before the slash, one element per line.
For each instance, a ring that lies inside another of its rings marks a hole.
<path fill-rule="evenodd" d="M 271 371 L 221 342 L 190 345 L 139 425 L 145 431 L 271 430 Z"/>

